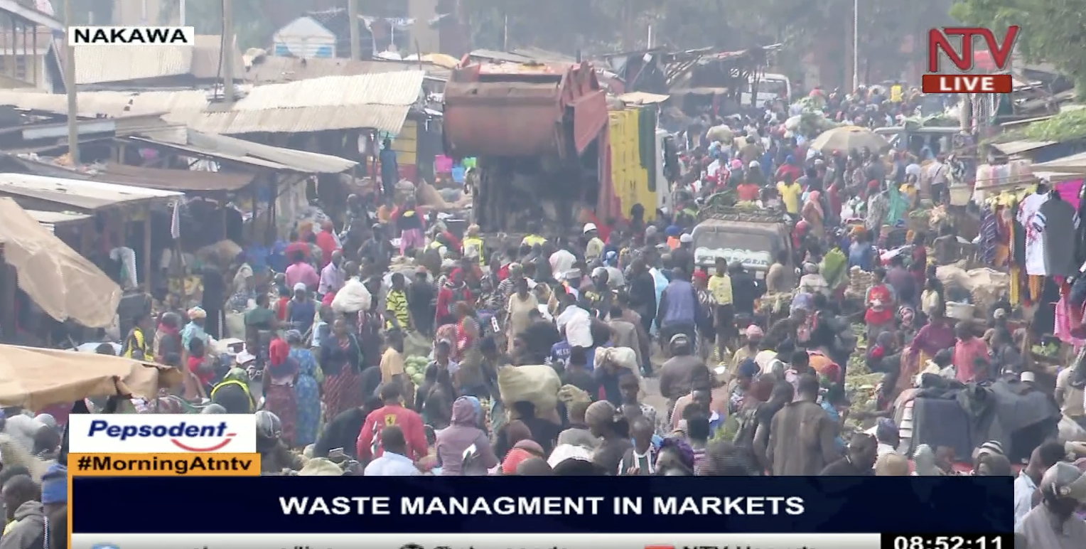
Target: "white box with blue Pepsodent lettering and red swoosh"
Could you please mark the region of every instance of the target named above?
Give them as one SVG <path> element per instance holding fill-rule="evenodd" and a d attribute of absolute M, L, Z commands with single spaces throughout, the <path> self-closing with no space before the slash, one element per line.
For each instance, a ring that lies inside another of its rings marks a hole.
<path fill-rule="evenodd" d="M 73 415 L 72 452 L 255 452 L 251 414 Z"/>

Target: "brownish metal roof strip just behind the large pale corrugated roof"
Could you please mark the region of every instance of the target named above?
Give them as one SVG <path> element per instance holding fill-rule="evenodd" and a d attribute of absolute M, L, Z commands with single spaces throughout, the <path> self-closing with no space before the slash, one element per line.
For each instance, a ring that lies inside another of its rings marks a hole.
<path fill-rule="evenodd" d="M 321 76 L 356 76 L 359 74 L 422 71 L 428 78 L 449 80 L 450 71 L 433 63 L 408 61 L 354 61 L 350 59 L 299 59 L 263 55 L 252 66 L 239 72 L 253 84 L 305 80 Z"/>

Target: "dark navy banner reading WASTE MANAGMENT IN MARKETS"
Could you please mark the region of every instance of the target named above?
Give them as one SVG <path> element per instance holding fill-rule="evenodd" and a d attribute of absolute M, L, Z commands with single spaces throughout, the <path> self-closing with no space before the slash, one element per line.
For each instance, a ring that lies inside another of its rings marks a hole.
<path fill-rule="evenodd" d="M 75 476 L 70 507 L 73 534 L 989 534 L 1012 532 L 1012 483 L 1010 476 Z M 162 497 L 153 512 L 132 520 L 101 504 L 118 494 Z M 177 520 L 193 509 L 209 519 Z"/>

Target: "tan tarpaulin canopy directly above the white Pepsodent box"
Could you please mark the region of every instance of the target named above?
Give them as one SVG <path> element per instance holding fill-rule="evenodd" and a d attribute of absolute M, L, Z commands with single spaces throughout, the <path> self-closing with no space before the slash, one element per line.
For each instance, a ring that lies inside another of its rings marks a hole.
<path fill-rule="evenodd" d="M 41 410 L 87 397 L 154 398 L 181 380 L 175 367 L 89 352 L 0 345 L 0 405 Z"/>

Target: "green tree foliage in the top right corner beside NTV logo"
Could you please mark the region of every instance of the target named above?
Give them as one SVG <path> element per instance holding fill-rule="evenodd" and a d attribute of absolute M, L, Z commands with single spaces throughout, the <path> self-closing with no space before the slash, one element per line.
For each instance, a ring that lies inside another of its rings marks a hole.
<path fill-rule="evenodd" d="M 950 14 L 993 28 L 997 37 L 1009 25 L 1021 26 L 1018 51 L 1030 61 L 1055 64 L 1086 99 L 1086 0 L 958 0 Z"/>

